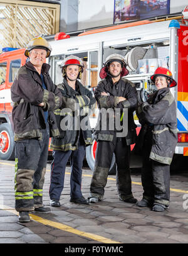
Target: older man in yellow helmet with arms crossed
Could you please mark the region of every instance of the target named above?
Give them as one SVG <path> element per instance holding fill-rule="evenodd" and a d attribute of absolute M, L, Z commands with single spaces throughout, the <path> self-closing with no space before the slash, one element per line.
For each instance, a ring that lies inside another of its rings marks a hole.
<path fill-rule="evenodd" d="M 61 93 L 51 81 L 45 64 L 51 47 L 39 37 L 26 47 L 29 62 L 18 70 L 11 87 L 14 102 L 15 199 L 19 221 L 29 221 L 29 211 L 46 212 L 43 183 L 48 157 L 49 136 L 59 135 L 53 110 L 61 106 Z"/>

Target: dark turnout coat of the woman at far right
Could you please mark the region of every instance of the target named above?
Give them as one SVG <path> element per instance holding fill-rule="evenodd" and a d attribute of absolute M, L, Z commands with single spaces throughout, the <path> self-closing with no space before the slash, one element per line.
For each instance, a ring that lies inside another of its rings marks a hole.
<path fill-rule="evenodd" d="M 176 105 L 170 89 L 163 88 L 152 94 L 138 106 L 137 116 L 142 130 L 145 125 L 153 125 L 150 159 L 170 165 L 177 144 Z M 140 134 L 144 132 L 140 130 Z"/>

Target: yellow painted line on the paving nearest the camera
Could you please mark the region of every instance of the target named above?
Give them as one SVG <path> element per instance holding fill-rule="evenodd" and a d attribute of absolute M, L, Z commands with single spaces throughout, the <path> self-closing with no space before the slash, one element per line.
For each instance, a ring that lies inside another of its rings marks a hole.
<path fill-rule="evenodd" d="M 0 208 L 3 209 L 4 211 L 9 211 L 11 213 L 14 213 L 16 215 L 18 215 L 18 211 L 16 211 L 15 209 L 9 207 L 9 206 L 4 206 L 4 205 L 0 205 Z M 52 226 L 53 228 L 57 228 L 58 230 L 63 230 L 69 233 L 73 233 L 75 235 L 79 235 L 80 237 L 86 237 L 86 238 L 90 238 L 91 240 L 95 240 L 101 243 L 120 243 L 114 240 L 111 240 L 109 238 L 106 237 L 102 237 L 100 235 L 95 235 L 92 233 L 88 233 L 85 231 L 80 231 L 80 230 L 76 230 L 75 228 L 72 228 L 71 226 L 65 225 L 63 223 L 58 223 L 56 221 L 51 221 L 51 220 L 46 220 L 44 218 L 41 218 L 37 215 L 34 214 L 29 214 L 29 216 L 31 217 L 31 220 L 34 220 L 36 222 L 39 222 L 43 225 L 48 225 L 48 226 Z"/>

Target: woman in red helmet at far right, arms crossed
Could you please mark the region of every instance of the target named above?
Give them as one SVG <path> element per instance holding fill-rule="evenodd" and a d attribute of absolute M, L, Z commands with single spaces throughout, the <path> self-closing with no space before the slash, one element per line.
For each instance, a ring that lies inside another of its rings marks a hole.
<path fill-rule="evenodd" d="M 164 67 L 156 69 L 151 80 L 157 91 L 137 109 L 142 124 L 144 188 L 143 198 L 137 206 L 152 206 L 153 211 L 164 211 L 169 208 L 170 163 L 177 143 L 176 106 L 170 88 L 177 83 L 170 70 Z"/>

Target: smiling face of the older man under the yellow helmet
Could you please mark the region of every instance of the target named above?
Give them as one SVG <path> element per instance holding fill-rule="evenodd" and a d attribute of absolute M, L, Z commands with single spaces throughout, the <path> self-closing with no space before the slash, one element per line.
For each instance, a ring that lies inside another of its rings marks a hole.
<path fill-rule="evenodd" d="M 34 48 L 29 52 L 30 62 L 36 67 L 42 67 L 46 60 L 46 50 Z"/>

